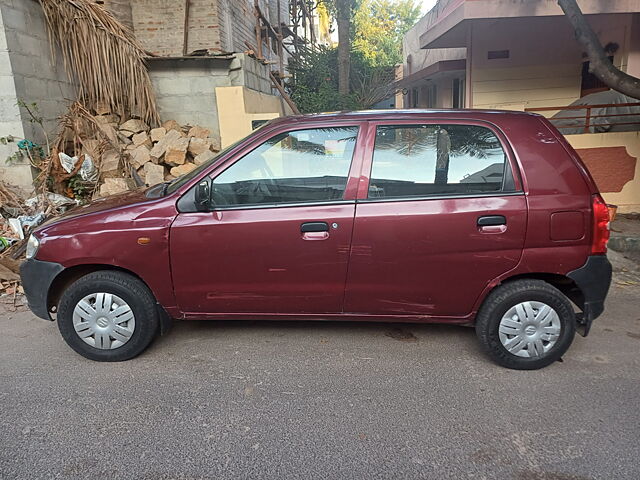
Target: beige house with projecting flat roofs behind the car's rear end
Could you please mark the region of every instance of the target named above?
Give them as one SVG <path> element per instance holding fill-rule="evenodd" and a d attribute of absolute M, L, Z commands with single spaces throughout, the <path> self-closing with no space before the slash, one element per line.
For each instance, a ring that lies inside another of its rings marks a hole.
<path fill-rule="evenodd" d="M 640 0 L 578 3 L 613 64 L 640 77 Z M 404 108 L 532 110 L 550 117 L 608 90 L 589 73 L 555 0 L 440 0 L 406 34 L 403 50 Z M 592 114 L 568 111 L 584 121 Z M 586 133 L 563 133 L 607 202 L 621 212 L 640 211 L 640 124 L 624 132 L 585 127 L 579 131 Z"/>

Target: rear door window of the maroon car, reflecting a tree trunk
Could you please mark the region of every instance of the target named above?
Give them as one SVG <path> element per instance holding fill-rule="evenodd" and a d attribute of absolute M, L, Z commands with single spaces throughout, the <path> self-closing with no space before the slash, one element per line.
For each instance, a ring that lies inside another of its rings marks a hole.
<path fill-rule="evenodd" d="M 379 125 L 368 198 L 513 191 L 496 135 L 477 125 Z"/>

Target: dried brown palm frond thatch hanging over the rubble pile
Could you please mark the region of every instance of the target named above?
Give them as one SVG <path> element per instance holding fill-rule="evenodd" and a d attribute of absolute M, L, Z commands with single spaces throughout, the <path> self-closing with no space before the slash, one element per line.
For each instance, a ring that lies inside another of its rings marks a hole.
<path fill-rule="evenodd" d="M 137 114 L 157 125 L 158 113 L 145 52 L 133 33 L 89 0 L 39 0 L 52 45 L 62 50 L 64 67 L 78 82 L 78 99 L 89 108 L 111 107 L 121 117 Z"/>

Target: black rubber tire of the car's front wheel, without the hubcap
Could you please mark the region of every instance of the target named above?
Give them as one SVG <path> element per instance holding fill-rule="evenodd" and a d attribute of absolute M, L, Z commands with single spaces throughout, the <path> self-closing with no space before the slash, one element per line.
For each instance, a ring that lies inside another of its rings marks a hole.
<path fill-rule="evenodd" d="M 131 338 L 112 350 L 87 344 L 73 326 L 73 310 L 78 302 L 99 292 L 117 295 L 130 306 L 135 316 Z M 58 328 L 67 344 L 83 357 L 100 362 L 120 362 L 139 355 L 155 337 L 160 323 L 156 300 L 149 288 L 133 275 L 111 270 L 89 273 L 67 287 L 60 298 L 57 317 Z"/>

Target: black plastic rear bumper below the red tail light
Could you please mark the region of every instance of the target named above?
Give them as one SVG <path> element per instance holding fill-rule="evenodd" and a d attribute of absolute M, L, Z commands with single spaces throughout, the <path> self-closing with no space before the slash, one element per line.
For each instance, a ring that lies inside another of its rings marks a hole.
<path fill-rule="evenodd" d="M 585 337 L 591 329 L 591 322 L 604 312 L 604 300 L 611 285 L 611 263 L 605 255 L 592 255 L 586 263 L 569 272 L 567 276 L 576 282 L 582 292 L 582 316 L 578 322 L 584 327 Z"/>

